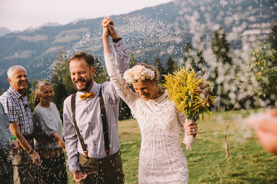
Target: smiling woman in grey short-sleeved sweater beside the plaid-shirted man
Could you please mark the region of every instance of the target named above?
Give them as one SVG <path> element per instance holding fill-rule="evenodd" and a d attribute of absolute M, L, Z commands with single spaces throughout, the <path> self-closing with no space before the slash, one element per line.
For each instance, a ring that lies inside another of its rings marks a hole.
<path fill-rule="evenodd" d="M 62 136 L 62 120 L 52 99 L 54 91 L 50 82 L 39 82 L 34 97 L 34 128 L 46 137 L 44 143 L 35 141 L 35 150 L 41 158 L 38 167 L 39 183 L 67 183 L 65 142 Z"/>

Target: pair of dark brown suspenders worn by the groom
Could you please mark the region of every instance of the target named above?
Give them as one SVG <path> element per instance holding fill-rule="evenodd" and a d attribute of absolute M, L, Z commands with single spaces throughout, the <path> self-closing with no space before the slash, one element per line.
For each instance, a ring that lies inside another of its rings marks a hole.
<path fill-rule="evenodd" d="M 77 132 L 77 136 L 79 138 L 79 141 L 81 143 L 82 149 L 86 155 L 86 159 L 89 159 L 88 157 L 88 151 L 86 149 L 86 145 L 84 143 L 84 140 L 80 134 L 79 128 L 76 123 L 75 119 L 75 102 L 76 102 L 76 94 L 74 93 L 71 97 L 71 111 L 72 111 L 72 119 L 74 123 L 74 127 Z M 110 155 L 110 141 L 109 141 L 109 132 L 108 132 L 108 122 L 107 122 L 107 115 L 106 115 L 106 110 L 105 110 L 105 104 L 102 96 L 102 87 L 100 87 L 100 92 L 99 92 L 99 101 L 100 101 L 100 110 L 101 110 L 101 117 L 102 117 L 102 128 L 103 128 L 103 133 L 104 133 L 104 144 L 105 144 L 105 151 L 106 155 Z"/>

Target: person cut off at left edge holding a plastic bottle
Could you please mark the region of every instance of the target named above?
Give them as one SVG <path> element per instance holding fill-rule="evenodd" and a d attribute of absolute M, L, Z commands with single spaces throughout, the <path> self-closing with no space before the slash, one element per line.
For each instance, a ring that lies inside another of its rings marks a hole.
<path fill-rule="evenodd" d="M 8 155 L 10 152 L 9 144 L 11 142 L 12 133 L 9 129 L 10 121 L 5 109 L 0 103 L 0 184 L 13 184 L 13 164 Z M 18 142 L 11 143 L 14 148 L 11 149 L 13 154 L 18 153 Z"/>

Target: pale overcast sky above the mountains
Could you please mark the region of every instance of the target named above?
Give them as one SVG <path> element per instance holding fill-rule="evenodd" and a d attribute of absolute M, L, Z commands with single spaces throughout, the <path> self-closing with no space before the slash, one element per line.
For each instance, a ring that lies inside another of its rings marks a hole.
<path fill-rule="evenodd" d="M 79 18 L 120 15 L 172 0 L 0 0 L 0 27 L 11 31 L 46 22 L 67 24 Z"/>

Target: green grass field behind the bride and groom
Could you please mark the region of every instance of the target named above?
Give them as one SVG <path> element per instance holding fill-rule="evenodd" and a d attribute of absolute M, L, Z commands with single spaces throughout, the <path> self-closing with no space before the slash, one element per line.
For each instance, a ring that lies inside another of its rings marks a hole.
<path fill-rule="evenodd" d="M 224 132 L 229 112 L 213 112 L 198 124 L 192 151 L 186 151 L 190 184 L 277 184 L 277 156 L 267 153 L 244 122 L 249 111 L 233 112 L 228 129 L 231 158 L 225 158 Z M 201 119 L 201 118 L 200 118 Z M 180 141 L 183 135 L 180 132 Z M 141 136 L 136 120 L 119 122 L 119 142 L 125 183 L 138 183 Z M 69 183 L 74 183 L 68 173 Z"/>

